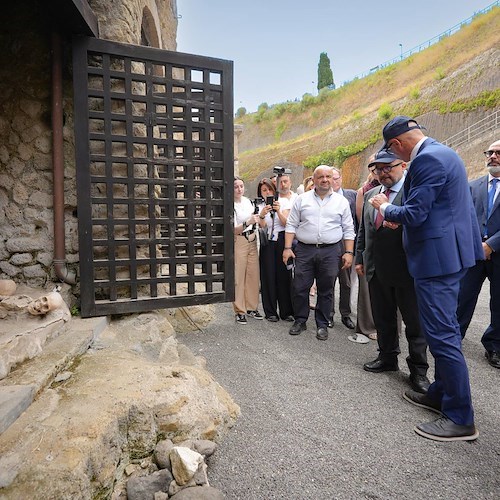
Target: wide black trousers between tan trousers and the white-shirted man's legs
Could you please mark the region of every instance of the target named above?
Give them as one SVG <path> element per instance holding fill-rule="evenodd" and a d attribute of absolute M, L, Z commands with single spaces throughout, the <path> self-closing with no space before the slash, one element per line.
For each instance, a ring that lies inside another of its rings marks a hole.
<path fill-rule="evenodd" d="M 281 231 L 277 241 L 269 241 L 269 244 L 260 250 L 260 289 L 266 318 L 279 316 L 285 319 L 294 315 L 292 273 L 283 264 L 284 246 L 285 232 Z"/>

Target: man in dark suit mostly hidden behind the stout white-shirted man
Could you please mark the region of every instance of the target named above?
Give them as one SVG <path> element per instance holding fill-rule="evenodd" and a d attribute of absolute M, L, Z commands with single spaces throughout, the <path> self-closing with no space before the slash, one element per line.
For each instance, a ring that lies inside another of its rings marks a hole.
<path fill-rule="evenodd" d="M 354 222 L 354 230 L 357 231 L 356 223 L 356 191 L 354 189 L 344 189 L 342 187 L 342 174 L 340 170 L 335 167 L 333 169 L 333 191 L 335 193 L 341 194 L 349 202 L 349 207 L 351 209 L 352 220 Z M 339 274 L 337 276 L 338 282 L 340 284 L 340 297 L 339 297 L 339 312 L 342 324 L 353 330 L 355 324 L 351 319 L 351 268 L 342 269 L 342 262 L 339 262 Z M 333 307 L 332 315 L 328 321 L 328 328 L 333 328 L 334 325 L 334 315 L 335 315 L 335 282 L 333 283 Z"/>

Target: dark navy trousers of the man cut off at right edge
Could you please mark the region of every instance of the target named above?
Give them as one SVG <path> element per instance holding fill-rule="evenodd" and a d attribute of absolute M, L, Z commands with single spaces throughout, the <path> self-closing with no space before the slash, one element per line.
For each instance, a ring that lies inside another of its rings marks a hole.
<path fill-rule="evenodd" d="M 460 281 L 458 323 L 463 338 L 472 320 L 477 298 L 486 278 L 490 281 L 491 322 L 481 342 L 487 351 L 500 352 L 500 259 L 480 260 L 474 267 L 467 270 Z"/>

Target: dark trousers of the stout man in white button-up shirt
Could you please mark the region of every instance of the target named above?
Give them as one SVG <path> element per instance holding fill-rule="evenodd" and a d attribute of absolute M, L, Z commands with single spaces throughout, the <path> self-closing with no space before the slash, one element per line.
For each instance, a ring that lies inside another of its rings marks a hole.
<path fill-rule="evenodd" d="M 309 290 L 316 280 L 316 326 L 327 327 L 332 311 L 333 282 L 337 277 L 341 246 L 317 248 L 298 243 L 295 248 L 293 309 L 295 320 L 305 323 L 309 317 Z"/>

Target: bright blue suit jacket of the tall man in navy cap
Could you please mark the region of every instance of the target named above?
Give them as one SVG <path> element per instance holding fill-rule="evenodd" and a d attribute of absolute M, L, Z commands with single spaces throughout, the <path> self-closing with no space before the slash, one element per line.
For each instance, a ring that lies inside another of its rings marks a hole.
<path fill-rule="evenodd" d="M 403 224 L 414 278 L 454 274 L 484 259 L 467 174 L 455 151 L 427 138 L 411 162 L 403 190 L 403 204 L 389 205 L 385 218 Z"/>

